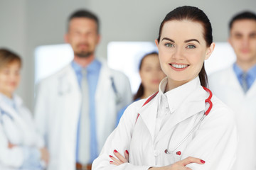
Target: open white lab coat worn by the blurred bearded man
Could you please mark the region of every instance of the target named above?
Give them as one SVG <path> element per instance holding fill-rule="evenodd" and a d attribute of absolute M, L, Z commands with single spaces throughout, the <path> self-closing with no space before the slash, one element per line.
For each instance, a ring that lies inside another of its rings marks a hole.
<path fill-rule="evenodd" d="M 132 101 L 129 80 L 102 62 L 95 94 L 97 148 L 102 149 L 114 130 L 117 112 Z M 117 88 L 121 101 L 112 88 Z M 70 64 L 39 84 L 35 113 L 41 133 L 50 152 L 49 170 L 75 170 L 78 118 L 81 108 L 78 79 Z"/>

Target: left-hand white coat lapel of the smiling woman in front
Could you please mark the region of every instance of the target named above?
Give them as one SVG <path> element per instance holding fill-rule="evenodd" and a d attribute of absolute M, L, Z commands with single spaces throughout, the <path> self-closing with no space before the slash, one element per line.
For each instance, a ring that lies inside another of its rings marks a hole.
<path fill-rule="evenodd" d="M 147 103 L 145 106 L 142 106 L 142 108 L 140 108 L 138 111 L 139 117 L 142 118 L 146 128 L 148 128 L 150 132 L 152 141 L 154 141 L 154 131 L 156 127 L 156 114 L 159 98 L 160 95 L 157 94 L 154 98 L 151 99 L 151 101 L 149 101 L 149 103 Z"/>

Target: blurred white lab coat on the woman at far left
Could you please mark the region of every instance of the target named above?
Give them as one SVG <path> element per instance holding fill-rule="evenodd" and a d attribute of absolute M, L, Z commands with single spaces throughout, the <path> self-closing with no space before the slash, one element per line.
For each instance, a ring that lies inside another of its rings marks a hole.
<path fill-rule="evenodd" d="M 43 147 L 43 137 L 36 132 L 36 125 L 21 98 L 14 95 L 16 110 L 6 104 L 0 95 L 0 169 L 19 169 L 23 164 L 23 147 Z M 3 114 L 4 113 L 4 114 Z M 16 145 L 9 149 L 8 143 Z"/>

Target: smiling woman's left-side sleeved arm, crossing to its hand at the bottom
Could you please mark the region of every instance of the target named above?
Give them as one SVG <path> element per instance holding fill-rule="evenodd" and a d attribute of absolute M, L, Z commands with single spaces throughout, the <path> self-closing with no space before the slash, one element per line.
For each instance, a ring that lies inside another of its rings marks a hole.
<path fill-rule="evenodd" d="M 141 101 L 140 101 L 141 102 Z M 186 164 L 196 163 L 196 164 L 204 164 L 201 159 L 196 159 L 192 157 L 188 157 L 181 162 L 176 162 L 176 164 L 171 164 L 169 166 L 162 166 L 162 167 L 150 167 L 150 166 L 135 166 L 128 162 L 128 154 L 129 152 L 129 145 L 132 138 L 132 131 L 134 128 L 135 121 L 137 119 L 137 113 L 135 112 L 134 105 L 129 106 L 126 111 L 124 111 L 124 115 L 122 116 L 119 125 L 117 128 L 112 132 L 110 137 L 107 138 L 105 142 L 105 146 L 100 153 L 100 156 L 95 159 L 92 164 L 93 170 L 147 170 L 147 169 L 158 169 L 158 170 L 178 170 L 178 169 L 187 169 Z M 141 106 L 141 105 L 139 105 Z M 124 153 L 124 157 L 122 154 Z M 115 157 L 113 157 L 114 155 Z"/>

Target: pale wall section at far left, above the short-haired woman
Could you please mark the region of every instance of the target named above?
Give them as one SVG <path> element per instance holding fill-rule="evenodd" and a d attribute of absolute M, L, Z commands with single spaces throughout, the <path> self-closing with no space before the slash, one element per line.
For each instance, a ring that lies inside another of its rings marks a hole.
<path fill-rule="evenodd" d="M 25 98 L 28 92 L 26 79 L 33 76 L 33 73 L 27 72 L 26 69 L 31 67 L 31 64 L 27 63 L 26 55 L 26 26 L 26 0 L 0 0 L 0 47 L 13 50 L 23 59 L 23 79 L 17 93 Z"/>

